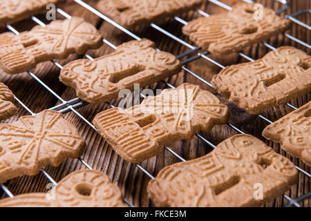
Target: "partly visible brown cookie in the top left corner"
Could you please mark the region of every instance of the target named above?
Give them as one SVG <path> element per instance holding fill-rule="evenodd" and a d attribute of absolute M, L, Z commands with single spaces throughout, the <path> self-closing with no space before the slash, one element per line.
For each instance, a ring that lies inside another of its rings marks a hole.
<path fill-rule="evenodd" d="M 15 23 L 32 15 L 47 12 L 46 6 L 62 0 L 2 0 L 0 1 L 0 27 Z"/>

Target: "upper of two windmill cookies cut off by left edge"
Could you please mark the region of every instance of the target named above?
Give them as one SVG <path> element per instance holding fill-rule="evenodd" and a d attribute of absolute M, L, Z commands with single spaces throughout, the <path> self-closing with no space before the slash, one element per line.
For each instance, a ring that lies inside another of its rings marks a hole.
<path fill-rule="evenodd" d="M 52 21 L 45 27 L 35 26 L 29 32 L 0 35 L 0 68 L 8 74 L 22 73 L 43 61 L 65 59 L 76 52 L 99 48 L 102 36 L 84 19 L 73 17 Z"/>

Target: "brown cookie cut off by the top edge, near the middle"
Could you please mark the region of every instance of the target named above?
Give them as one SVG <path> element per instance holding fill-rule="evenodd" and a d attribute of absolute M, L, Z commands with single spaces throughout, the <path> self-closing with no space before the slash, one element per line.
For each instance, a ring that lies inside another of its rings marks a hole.
<path fill-rule="evenodd" d="M 163 21 L 199 8 L 202 0 L 101 0 L 97 9 L 125 28 Z"/>

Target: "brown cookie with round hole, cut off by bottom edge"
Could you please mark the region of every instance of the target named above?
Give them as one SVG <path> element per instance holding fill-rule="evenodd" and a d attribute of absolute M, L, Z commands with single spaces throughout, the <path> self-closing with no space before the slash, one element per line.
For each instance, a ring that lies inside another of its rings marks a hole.
<path fill-rule="evenodd" d="M 75 171 L 50 193 L 28 193 L 0 200 L 0 207 L 126 207 L 122 192 L 100 171 Z"/>

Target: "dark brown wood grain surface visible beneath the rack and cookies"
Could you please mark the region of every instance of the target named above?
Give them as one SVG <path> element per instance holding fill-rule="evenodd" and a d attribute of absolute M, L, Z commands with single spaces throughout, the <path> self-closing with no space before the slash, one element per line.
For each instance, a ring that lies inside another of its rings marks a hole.
<path fill-rule="evenodd" d="M 229 6 L 233 6 L 234 3 L 240 2 L 241 0 L 223 0 L 224 3 L 227 3 Z M 91 6 L 95 6 L 96 1 L 86 1 Z M 277 3 L 273 0 L 267 1 L 259 1 L 263 3 L 264 6 L 269 8 L 274 8 L 275 10 L 281 8 L 283 6 L 281 3 Z M 82 6 L 79 6 L 73 0 L 68 0 L 66 3 L 62 3 L 59 8 L 62 8 L 65 12 L 68 12 L 70 15 L 76 15 L 80 17 L 84 17 L 86 21 L 93 23 L 104 36 L 105 39 L 111 41 L 116 46 L 122 44 L 124 41 L 129 41 L 132 38 L 129 35 L 126 35 L 124 32 L 117 30 L 114 26 L 110 23 L 103 21 L 97 15 L 94 15 L 92 12 L 86 10 Z M 311 0 L 292 0 L 290 1 L 290 8 L 285 11 L 286 14 L 292 14 L 293 12 L 297 12 L 303 9 L 310 9 L 311 8 Z M 214 3 L 207 3 L 202 10 L 208 12 L 209 14 L 226 12 L 223 8 L 216 6 Z M 198 17 L 198 12 L 189 12 L 185 13 L 185 15 L 181 15 L 183 19 L 186 21 L 191 21 L 192 19 Z M 64 19 L 61 15 L 57 15 L 58 19 Z M 38 16 L 44 22 L 46 21 L 44 15 Z M 297 17 L 299 20 L 308 23 L 311 23 L 310 14 L 308 15 L 301 15 Z M 12 25 L 16 28 L 19 32 L 23 30 L 30 30 L 32 26 L 35 26 L 35 22 L 31 19 L 21 21 L 17 24 Z M 169 21 L 162 23 L 160 25 L 165 30 L 169 30 L 173 35 L 180 37 L 187 41 L 189 44 L 194 45 L 193 42 L 189 41 L 185 35 L 182 35 L 181 28 L 182 25 L 173 19 L 169 19 Z M 3 29 L 0 32 L 6 32 L 8 30 Z M 173 41 L 171 38 L 163 35 L 159 31 L 155 30 L 151 26 L 146 27 L 138 27 L 133 32 L 138 35 L 139 37 L 147 37 L 156 42 L 156 46 L 161 50 L 171 52 L 173 55 L 179 55 L 189 48 L 182 46 L 176 41 Z M 298 26 L 293 23 L 291 30 L 288 31 L 290 35 L 301 39 L 302 41 L 306 41 L 308 44 L 311 44 L 311 32 L 310 30 Z M 283 45 L 290 45 L 296 48 L 300 48 L 305 52 L 308 52 L 310 55 L 310 50 L 308 48 L 296 44 L 294 41 L 284 37 L 283 35 L 279 35 L 267 41 L 274 47 L 279 47 Z M 244 52 L 249 57 L 253 59 L 258 59 L 263 57 L 270 49 L 265 47 L 263 44 L 257 44 L 252 48 L 247 48 Z M 107 55 L 113 52 L 113 49 L 104 44 L 102 48 L 98 50 L 90 50 L 88 51 L 88 55 L 92 57 L 99 57 L 101 55 Z M 192 54 L 195 55 L 195 54 Z M 212 59 L 216 59 L 216 61 L 220 62 L 224 66 L 230 64 L 238 64 L 241 62 L 245 62 L 246 60 L 243 59 L 241 56 L 238 55 L 226 55 L 222 57 L 215 57 L 212 55 L 208 55 Z M 68 59 L 59 61 L 60 64 L 66 64 L 68 61 L 72 61 L 74 59 L 79 58 L 77 55 L 71 55 Z M 185 59 L 185 58 L 184 58 Z M 187 64 L 186 66 L 189 70 L 193 71 L 194 73 L 198 74 L 200 77 L 207 79 L 208 81 L 211 79 L 213 75 L 216 75 L 220 68 L 211 64 L 209 61 L 205 59 L 198 59 L 196 61 Z M 65 100 L 75 98 L 75 91 L 72 88 L 67 88 L 61 82 L 59 82 L 59 68 L 57 68 L 51 61 L 44 62 L 39 64 L 35 70 L 32 70 L 33 73 L 39 77 L 45 84 L 47 84 L 52 90 L 57 93 L 57 95 L 61 96 Z M 15 95 L 24 103 L 26 106 L 30 108 L 31 111 L 34 113 L 39 113 L 46 108 L 51 108 L 56 104 L 60 104 L 59 100 L 53 96 L 51 93 L 46 90 L 43 86 L 37 83 L 35 79 L 33 79 L 28 73 L 22 73 L 20 75 L 6 75 L 0 70 L 0 79 L 1 82 L 7 84 L 9 88 L 15 93 Z M 182 72 L 178 75 L 167 79 L 167 81 L 172 84 L 173 86 L 179 86 L 183 82 L 189 82 L 193 84 L 198 84 L 205 90 L 211 90 L 209 86 L 202 83 L 198 79 L 189 75 L 189 73 Z M 150 86 L 150 88 L 165 88 L 165 84 L 158 83 Z M 213 93 L 215 91 L 211 90 Z M 220 97 L 220 96 L 219 96 Z M 222 101 L 227 104 L 226 99 L 220 97 Z M 297 99 L 293 100 L 291 104 L 296 107 L 300 107 L 303 104 L 310 101 L 310 94 L 304 95 L 303 97 L 298 97 Z M 117 104 L 118 100 L 111 102 L 112 104 Z M 231 107 L 231 121 L 234 125 L 241 128 L 242 131 L 245 133 L 250 133 L 255 135 L 256 137 L 264 140 L 261 136 L 261 132 L 263 128 L 267 126 L 267 122 L 263 121 L 260 117 L 248 115 L 243 111 L 239 110 L 238 108 L 234 107 L 233 105 L 229 105 Z M 9 120 L 5 122 L 15 122 L 19 116 L 21 115 L 29 115 L 29 113 L 19 104 L 17 104 L 19 108 L 19 115 L 16 117 L 11 117 Z M 77 111 L 81 113 L 86 119 L 91 121 L 93 117 L 100 111 L 105 110 L 106 108 L 110 108 L 107 104 L 103 104 L 101 106 L 91 106 L 87 105 L 82 108 L 78 108 Z M 265 117 L 275 121 L 280 117 L 290 113 L 292 109 L 288 106 L 281 105 L 276 108 L 271 108 L 270 110 L 263 113 Z M 147 184 L 150 180 L 147 175 L 144 175 L 142 171 L 140 171 L 134 164 L 130 164 L 122 160 L 120 157 L 116 155 L 113 149 L 106 144 L 105 140 L 100 137 L 90 126 L 88 126 L 85 122 L 82 121 L 75 113 L 66 113 L 66 119 L 70 122 L 73 122 L 77 128 L 79 128 L 79 133 L 85 137 L 87 147 L 86 151 L 83 155 L 83 159 L 90 164 L 93 169 L 97 169 L 100 171 L 104 171 L 104 173 L 108 174 L 111 177 L 111 180 L 124 191 L 125 198 L 128 199 L 130 202 L 133 202 L 135 206 L 152 206 L 152 203 L 147 198 Z M 229 126 L 215 126 L 213 131 L 210 133 L 202 134 L 207 140 L 212 142 L 213 144 L 219 144 L 223 140 L 232 135 L 236 134 L 237 132 L 234 131 Z M 275 151 L 290 157 L 284 151 L 281 150 L 278 144 L 273 144 L 272 142 L 267 142 L 267 144 L 272 146 Z M 170 145 L 173 151 L 180 154 L 186 160 L 195 159 L 202 155 L 209 153 L 212 148 L 199 140 L 198 137 L 194 138 L 194 140 L 189 141 L 180 141 Z M 304 169 L 308 173 L 310 173 L 310 167 L 305 166 L 302 162 L 298 159 L 290 157 L 292 162 L 296 165 L 300 166 L 301 169 Z M 168 151 L 162 151 L 157 157 L 153 157 L 145 162 L 142 162 L 141 166 L 144 169 L 147 169 L 149 173 L 156 176 L 156 174 L 162 169 L 164 166 L 179 162 L 176 157 L 171 155 Z M 47 166 L 45 171 L 53 177 L 54 180 L 59 181 L 62 177 L 68 175 L 75 170 L 85 169 L 85 166 L 79 162 L 78 160 L 66 160 L 58 167 Z M 14 195 L 21 194 L 21 193 L 31 193 L 31 192 L 46 192 L 47 184 L 49 183 L 48 179 L 44 176 L 43 173 L 39 173 L 38 175 L 28 177 L 23 176 L 13 180 L 6 182 L 6 186 L 8 189 L 12 191 Z M 300 173 L 299 177 L 299 184 L 292 186 L 290 191 L 286 194 L 289 195 L 291 198 L 298 198 L 299 196 L 309 193 L 310 189 L 310 178 Z M 1 198 L 7 197 L 3 191 L 0 192 Z M 288 200 L 286 200 L 283 196 L 277 198 L 273 202 L 270 202 L 266 206 L 285 206 L 288 204 Z M 310 206 L 311 199 L 305 200 L 301 203 L 301 206 Z"/>

